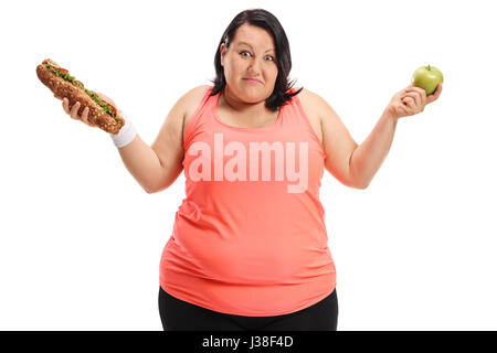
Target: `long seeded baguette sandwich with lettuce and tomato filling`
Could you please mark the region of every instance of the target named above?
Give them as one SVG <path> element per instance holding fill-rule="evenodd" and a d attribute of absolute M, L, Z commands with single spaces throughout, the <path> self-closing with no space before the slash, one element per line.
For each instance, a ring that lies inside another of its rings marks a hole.
<path fill-rule="evenodd" d="M 70 109 L 76 101 L 81 104 L 78 114 L 88 107 L 88 120 L 104 131 L 116 135 L 125 125 L 125 119 L 116 107 L 102 99 L 95 92 L 86 89 L 81 81 L 76 81 L 67 69 L 60 67 L 50 58 L 38 65 L 36 75 L 56 97 L 68 99 Z"/>

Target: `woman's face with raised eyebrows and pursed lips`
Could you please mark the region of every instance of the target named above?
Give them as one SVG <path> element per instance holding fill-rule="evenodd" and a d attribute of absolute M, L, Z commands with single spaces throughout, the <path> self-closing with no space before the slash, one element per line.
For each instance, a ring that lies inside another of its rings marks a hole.
<path fill-rule="evenodd" d="M 221 65 L 231 95 L 246 103 L 265 100 L 272 95 L 278 75 L 273 36 L 258 26 L 242 24 L 229 49 L 221 44 Z"/>

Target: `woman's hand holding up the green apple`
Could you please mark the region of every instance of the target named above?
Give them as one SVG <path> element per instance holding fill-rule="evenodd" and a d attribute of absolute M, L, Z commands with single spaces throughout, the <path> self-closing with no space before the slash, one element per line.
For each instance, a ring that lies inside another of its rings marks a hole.
<path fill-rule="evenodd" d="M 423 111 L 427 104 L 438 99 L 441 93 L 441 83 L 436 86 L 435 92 L 430 96 L 426 96 L 426 92 L 423 88 L 409 85 L 393 96 L 387 107 L 387 110 L 396 119 L 416 115 Z"/>

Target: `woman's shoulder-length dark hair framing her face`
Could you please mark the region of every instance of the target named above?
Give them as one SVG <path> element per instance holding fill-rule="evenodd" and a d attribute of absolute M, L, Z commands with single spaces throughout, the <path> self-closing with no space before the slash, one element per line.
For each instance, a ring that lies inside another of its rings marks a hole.
<path fill-rule="evenodd" d="M 276 77 L 273 94 L 266 99 L 266 107 L 276 111 L 279 107 L 285 105 L 287 100 L 290 100 L 293 96 L 299 94 L 304 87 L 297 92 L 287 93 L 295 84 L 294 81 L 288 82 L 288 74 L 292 69 L 292 55 L 288 39 L 286 38 L 279 21 L 271 12 L 263 9 L 251 9 L 240 12 L 224 31 L 218 45 L 218 51 L 215 52 L 214 66 L 216 76 L 214 79 L 211 79 L 214 84 L 211 96 L 222 92 L 226 86 L 224 68 L 221 65 L 221 44 L 224 43 L 225 46 L 229 47 L 235 36 L 236 30 L 244 23 L 260 26 L 273 35 L 276 45 L 278 75 Z"/>

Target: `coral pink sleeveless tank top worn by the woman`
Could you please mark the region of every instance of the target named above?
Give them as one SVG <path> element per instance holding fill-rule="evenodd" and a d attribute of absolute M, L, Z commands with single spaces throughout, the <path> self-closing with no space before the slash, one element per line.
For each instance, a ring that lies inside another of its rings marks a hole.
<path fill-rule="evenodd" d="M 212 88 L 186 129 L 186 199 L 162 253 L 160 286 L 229 314 L 310 307 L 336 286 L 319 201 L 322 145 L 298 95 L 272 125 L 237 128 L 220 120 Z"/>

